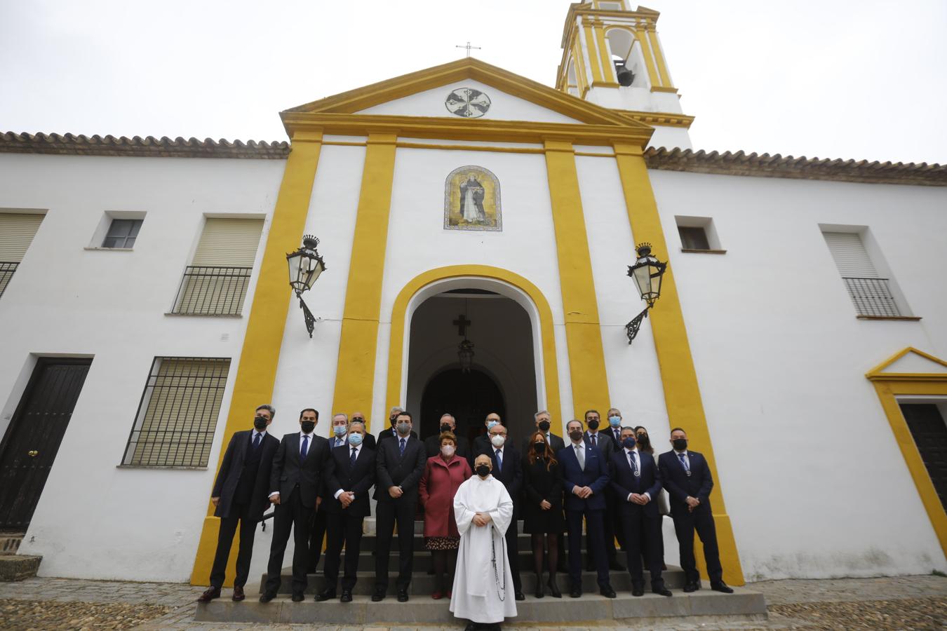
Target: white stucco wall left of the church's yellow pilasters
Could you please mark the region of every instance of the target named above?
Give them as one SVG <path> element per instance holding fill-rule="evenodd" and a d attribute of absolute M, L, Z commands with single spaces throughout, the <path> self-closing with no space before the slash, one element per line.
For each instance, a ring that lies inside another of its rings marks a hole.
<path fill-rule="evenodd" d="M 225 417 L 246 318 L 165 312 L 205 214 L 266 217 L 265 242 L 283 167 L 281 160 L 0 155 L 0 208 L 48 210 L 0 299 L 0 432 L 37 355 L 94 358 L 20 548 L 44 556 L 41 575 L 188 580 L 221 432 L 205 470 L 116 465 L 154 356 L 231 358 Z M 110 210 L 147 213 L 133 252 L 83 249 Z"/>

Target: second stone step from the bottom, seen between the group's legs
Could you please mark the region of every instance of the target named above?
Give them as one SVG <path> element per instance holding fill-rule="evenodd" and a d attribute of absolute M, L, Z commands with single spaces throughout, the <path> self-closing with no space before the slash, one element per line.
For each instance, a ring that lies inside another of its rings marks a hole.
<path fill-rule="evenodd" d="M 342 593 L 341 587 L 341 574 L 342 570 L 339 572 L 340 583 L 335 587 L 335 590 L 338 593 Z M 355 587 L 352 589 L 352 594 L 362 594 L 368 595 L 371 594 L 375 586 L 375 572 L 372 571 L 359 571 L 357 572 L 358 582 L 355 584 Z M 667 571 L 661 573 L 664 577 L 665 585 L 669 589 L 683 589 L 685 584 L 684 570 L 675 567 L 669 567 Z M 547 574 L 544 574 L 545 578 L 548 578 Z M 557 574 L 557 581 L 559 583 L 559 589 L 568 590 L 569 577 L 565 573 Z M 259 592 L 262 593 L 263 585 L 266 584 L 267 575 L 264 573 L 259 580 Z M 612 587 L 616 591 L 631 591 L 632 589 L 632 578 L 627 571 L 610 571 L 609 572 L 609 581 L 612 584 Z M 645 573 L 645 587 L 647 589 L 651 588 L 651 581 L 648 577 L 647 572 Z M 388 572 L 388 586 L 389 589 L 394 589 L 394 585 L 398 578 L 398 572 Z M 524 593 L 533 593 L 536 588 L 536 574 L 532 571 L 520 571 L 520 579 L 523 581 L 523 591 Z M 308 585 L 306 587 L 307 594 L 317 594 L 325 588 L 326 580 L 321 571 L 318 571 L 314 574 L 307 575 Z M 428 596 L 435 591 L 435 577 L 434 574 L 428 574 L 424 571 L 416 571 L 411 575 L 411 586 L 408 588 L 408 593 L 417 594 L 419 596 Z M 582 589 L 585 591 L 598 591 L 599 582 L 598 574 L 594 571 L 583 571 L 582 572 Z M 279 582 L 279 593 L 280 594 L 289 594 L 293 591 L 293 569 L 292 568 L 283 568 L 282 573 L 280 574 Z M 247 590 L 249 593 L 250 590 Z"/>

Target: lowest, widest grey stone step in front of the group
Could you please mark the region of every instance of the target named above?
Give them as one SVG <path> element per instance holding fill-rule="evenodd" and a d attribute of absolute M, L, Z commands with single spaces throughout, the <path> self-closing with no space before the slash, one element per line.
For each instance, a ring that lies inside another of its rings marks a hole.
<path fill-rule="evenodd" d="M 372 603 L 368 596 L 355 596 L 351 603 L 315 603 L 312 599 L 293 603 L 288 597 L 277 597 L 266 604 L 255 599 L 234 603 L 224 597 L 198 604 L 194 618 L 198 622 L 271 624 L 455 625 L 458 621 L 450 612 L 449 605 L 447 599 L 435 601 L 428 597 L 414 597 L 408 603 L 399 603 L 392 594 L 381 603 Z M 569 598 L 568 594 L 563 598 L 546 596 L 537 599 L 527 592 L 527 599 L 516 603 L 516 609 L 516 618 L 510 618 L 508 622 L 555 624 L 627 619 L 628 622 L 647 625 L 650 621 L 667 623 L 669 618 L 681 618 L 681 622 L 687 624 L 766 619 L 763 595 L 744 587 L 735 587 L 733 594 L 707 589 L 690 594 L 675 591 L 670 598 L 650 593 L 635 598 L 628 592 L 621 592 L 616 599 L 604 598 L 598 593 L 586 593 L 581 599 Z"/>

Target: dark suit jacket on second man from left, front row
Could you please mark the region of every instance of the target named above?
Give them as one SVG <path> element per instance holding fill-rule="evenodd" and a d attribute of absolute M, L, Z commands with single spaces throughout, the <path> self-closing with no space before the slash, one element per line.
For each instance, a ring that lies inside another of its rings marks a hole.
<path fill-rule="evenodd" d="M 280 500 L 289 500 L 295 485 L 299 485 L 299 499 L 306 508 L 315 506 L 315 499 L 324 492 L 325 477 L 331 472 L 329 441 L 314 433 L 306 452 L 306 460 L 299 459 L 299 432 L 283 436 L 277 455 L 273 457 L 270 473 L 270 492 L 279 492 Z"/>

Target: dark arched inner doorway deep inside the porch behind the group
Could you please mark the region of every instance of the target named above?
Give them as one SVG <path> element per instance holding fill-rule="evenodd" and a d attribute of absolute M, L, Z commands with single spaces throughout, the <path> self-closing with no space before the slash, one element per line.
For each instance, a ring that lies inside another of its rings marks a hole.
<path fill-rule="evenodd" d="M 438 433 L 438 421 L 444 412 L 454 414 L 457 433 L 472 442 L 484 429 L 483 419 L 490 412 L 507 417 L 503 394 L 493 379 L 478 370 L 464 373 L 459 368 L 432 378 L 420 399 L 420 438 Z"/>

